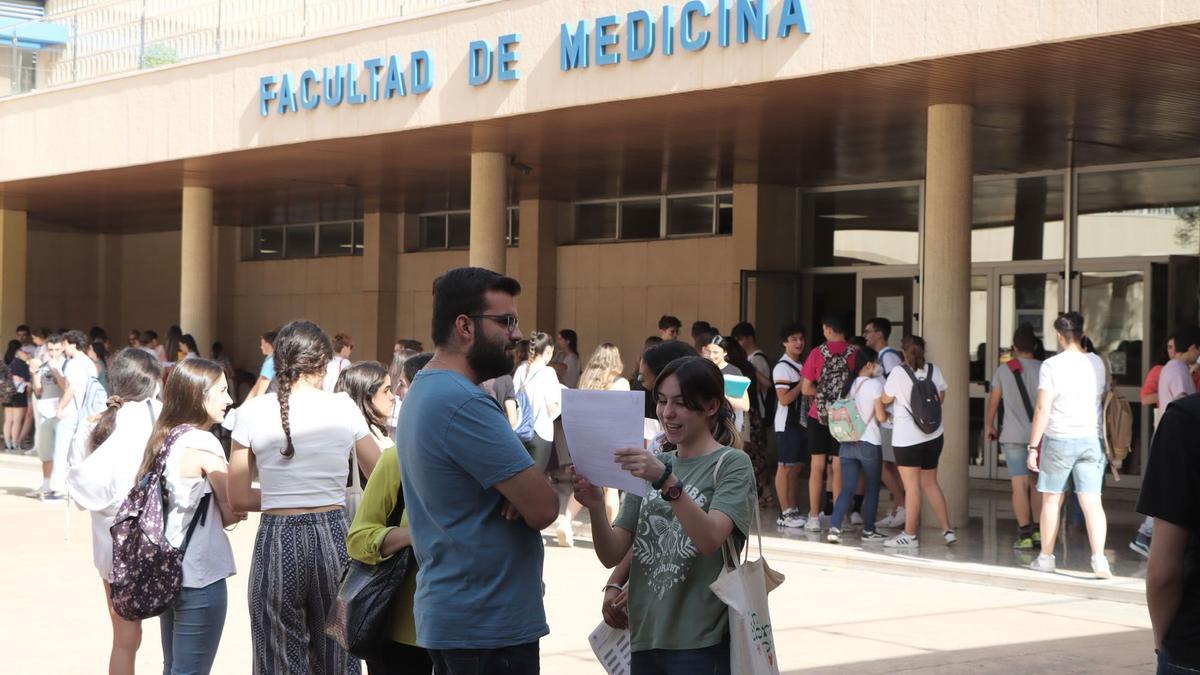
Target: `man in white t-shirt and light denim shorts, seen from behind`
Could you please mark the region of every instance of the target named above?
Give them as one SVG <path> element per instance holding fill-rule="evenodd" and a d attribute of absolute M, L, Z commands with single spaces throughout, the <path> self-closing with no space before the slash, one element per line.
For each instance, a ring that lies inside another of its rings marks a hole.
<path fill-rule="evenodd" d="M 1082 315 L 1061 315 L 1054 328 L 1061 350 L 1042 364 L 1028 444 L 1028 468 L 1038 472 L 1042 492 L 1042 552 L 1031 567 L 1038 572 L 1055 571 L 1058 510 L 1067 480 L 1074 478 L 1075 495 L 1087 524 L 1092 572 L 1099 579 L 1109 579 L 1112 572 L 1104 556 L 1108 518 L 1100 502 L 1108 466 L 1100 447 L 1100 402 L 1108 389 L 1108 375 L 1098 356 L 1084 352 Z"/>

